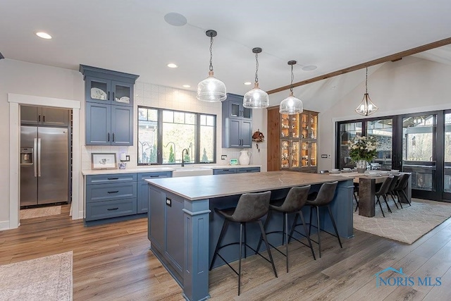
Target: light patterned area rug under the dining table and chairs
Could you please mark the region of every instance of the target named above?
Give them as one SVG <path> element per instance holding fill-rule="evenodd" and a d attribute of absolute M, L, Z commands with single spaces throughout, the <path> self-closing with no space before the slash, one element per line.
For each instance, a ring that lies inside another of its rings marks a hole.
<path fill-rule="evenodd" d="M 393 213 L 389 213 L 382 203 L 385 218 L 381 209 L 376 206 L 376 216 L 359 216 L 354 212 L 354 228 L 384 238 L 390 238 L 412 244 L 421 236 L 451 217 L 451 204 L 445 202 L 412 199 L 412 206 L 402 204 L 403 209 L 396 209 L 393 200 L 388 202 Z M 399 204 L 398 204 L 399 206 Z"/>

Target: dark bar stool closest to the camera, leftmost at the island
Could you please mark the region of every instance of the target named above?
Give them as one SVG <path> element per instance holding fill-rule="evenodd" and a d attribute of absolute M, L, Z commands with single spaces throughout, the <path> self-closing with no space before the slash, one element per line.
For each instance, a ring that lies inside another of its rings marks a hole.
<path fill-rule="evenodd" d="M 246 223 L 257 222 L 260 226 L 261 235 L 263 236 L 266 250 L 268 251 L 269 259 L 258 253 L 252 247 L 247 245 L 246 243 L 246 231 L 244 234 L 245 240 L 245 249 L 249 247 L 249 249 L 259 254 L 262 258 L 264 258 L 267 262 L 271 262 L 273 266 L 274 276 L 277 278 L 276 266 L 274 266 L 273 257 L 271 255 L 271 250 L 269 250 L 268 240 L 266 240 L 266 234 L 263 228 L 263 223 L 261 223 L 261 217 L 264 216 L 269 209 L 269 199 L 271 198 L 271 191 L 266 192 L 258 192 L 258 193 L 244 193 L 238 199 L 237 207 L 228 208 L 228 209 L 217 209 L 215 208 L 217 214 L 224 217 L 223 228 L 221 229 L 221 234 L 219 235 L 218 243 L 216 244 L 216 248 L 214 250 L 213 259 L 211 259 L 211 264 L 209 271 L 213 268 L 213 264 L 216 260 L 216 256 L 221 257 L 224 262 L 232 269 L 235 274 L 238 275 L 238 295 L 240 295 L 241 288 L 241 253 L 242 253 L 242 241 L 243 241 L 243 226 L 246 228 Z M 227 245 L 222 245 L 221 242 L 226 234 L 226 230 L 228 227 L 228 223 L 235 222 L 240 223 L 240 241 L 232 242 Z M 224 259 L 221 254 L 219 254 L 219 250 L 223 247 L 228 247 L 229 245 L 240 245 L 239 259 L 238 259 L 238 271 L 235 271 L 230 264 Z"/>

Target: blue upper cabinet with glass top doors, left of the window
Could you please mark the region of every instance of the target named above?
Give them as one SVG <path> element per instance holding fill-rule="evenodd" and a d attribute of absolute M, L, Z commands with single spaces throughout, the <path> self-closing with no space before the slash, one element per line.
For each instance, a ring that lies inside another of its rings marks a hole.
<path fill-rule="evenodd" d="M 138 75 L 80 65 L 85 79 L 86 145 L 133 145 L 133 86 Z"/>

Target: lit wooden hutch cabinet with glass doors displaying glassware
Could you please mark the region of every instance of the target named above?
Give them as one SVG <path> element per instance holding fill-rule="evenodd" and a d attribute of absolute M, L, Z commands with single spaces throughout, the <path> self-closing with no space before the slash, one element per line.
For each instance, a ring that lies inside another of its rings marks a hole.
<path fill-rule="evenodd" d="M 316 173 L 318 113 L 280 114 L 268 109 L 268 171 Z"/>

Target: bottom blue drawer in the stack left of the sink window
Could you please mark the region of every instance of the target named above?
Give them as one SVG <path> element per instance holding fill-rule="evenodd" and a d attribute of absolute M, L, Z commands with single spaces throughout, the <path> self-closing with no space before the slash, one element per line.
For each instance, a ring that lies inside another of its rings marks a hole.
<path fill-rule="evenodd" d="M 87 203 L 86 221 L 136 214 L 136 204 L 136 198 Z"/>

